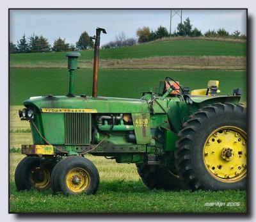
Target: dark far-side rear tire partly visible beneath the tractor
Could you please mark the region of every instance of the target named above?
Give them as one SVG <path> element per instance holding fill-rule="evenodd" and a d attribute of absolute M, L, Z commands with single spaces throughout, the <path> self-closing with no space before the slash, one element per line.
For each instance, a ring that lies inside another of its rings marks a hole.
<path fill-rule="evenodd" d="M 149 189 L 185 189 L 184 182 L 180 180 L 179 175 L 175 175 L 172 171 L 165 170 L 160 166 L 155 166 L 154 171 L 150 171 L 147 163 L 136 164 L 136 166 L 141 180 Z"/>

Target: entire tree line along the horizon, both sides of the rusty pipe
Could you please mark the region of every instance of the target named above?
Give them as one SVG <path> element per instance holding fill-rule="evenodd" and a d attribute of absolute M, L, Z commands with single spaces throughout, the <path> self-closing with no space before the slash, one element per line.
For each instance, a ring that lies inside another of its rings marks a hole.
<path fill-rule="evenodd" d="M 228 33 L 224 28 L 215 30 L 209 30 L 202 34 L 198 28 L 192 28 L 193 25 L 189 18 L 184 20 L 183 23 L 179 23 L 177 29 L 174 33 L 170 35 L 167 29 L 163 26 L 159 26 L 155 31 L 150 30 L 149 27 L 144 26 L 143 28 L 138 28 L 136 35 L 138 36 L 138 43 L 151 42 L 159 38 L 165 38 L 170 36 L 186 36 L 186 37 L 231 37 L 231 38 L 243 38 L 246 39 L 245 35 L 242 35 L 240 31 L 234 31 L 232 34 Z M 131 46 L 137 44 L 136 38 L 126 38 L 124 32 L 116 35 L 115 41 L 108 42 L 102 45 L 102 49 L 113 49 L 124 46 Z M 62 52 L 62 51 L 76 51 L 76 50 L 86 50 L 93 47 L 93 41 L 86 31 L 84 31 L 79 40 L 74 44 L 68 44 L 65 38 L 57 38 L 54 40 L 52 46 L 49 44 L 47 38 L 40 35 L 31 35 L 26 38 L 25 34 L 17 41 L 17 44 L 10 42 L 10 52 L 11 53 L 26 53 L 26 52 Z"/>

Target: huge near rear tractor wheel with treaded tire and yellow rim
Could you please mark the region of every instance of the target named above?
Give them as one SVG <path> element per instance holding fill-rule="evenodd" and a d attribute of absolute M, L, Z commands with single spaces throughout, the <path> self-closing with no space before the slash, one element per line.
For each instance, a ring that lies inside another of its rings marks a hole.
<path fill-rule="evenodd" d="M 198 110 L 184 123 L 175 164 L 192 189 L 246 187 L 246 109 L 230 103 Z"/>

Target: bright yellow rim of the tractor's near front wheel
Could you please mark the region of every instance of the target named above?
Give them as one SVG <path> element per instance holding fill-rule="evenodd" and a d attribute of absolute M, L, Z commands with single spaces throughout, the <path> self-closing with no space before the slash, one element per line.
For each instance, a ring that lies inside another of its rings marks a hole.
<path fill-rule="evenodd" d="M 67 173 L 66 184 L 74 193 L 82 193 L 88 189 L 90 183 L 89 173 L 83 168 L 74 168 Z"/>

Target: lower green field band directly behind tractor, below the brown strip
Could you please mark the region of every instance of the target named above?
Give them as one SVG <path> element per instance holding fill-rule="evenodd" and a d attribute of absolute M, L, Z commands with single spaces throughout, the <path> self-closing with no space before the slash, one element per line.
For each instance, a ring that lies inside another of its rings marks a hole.
<path fill-rule="evenodd" d="M 75 93 L 92 95 L 90 69 L 78 70 Z M 205 88 L 211 79 L 220 81 L 221 93 L 232 93 L 243 88 L 242 101 L 246 100 L 246 72 L 221 70 L 100 70 L 99 95 L 108 97 L 140 98 L 142 91 L 155 89 L 159 81 L 170 76 L 191 90 Z M 11 68 L 10 104 L 19 105 L 25 99 L 38 95 L 66 95 L 68 72 L 66 68 Z"/>

